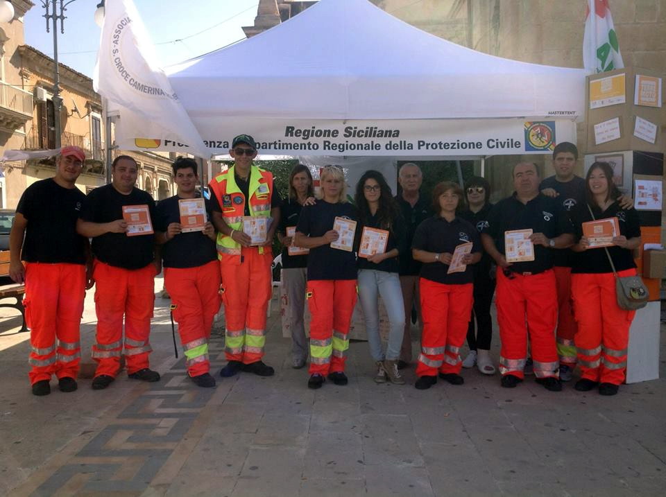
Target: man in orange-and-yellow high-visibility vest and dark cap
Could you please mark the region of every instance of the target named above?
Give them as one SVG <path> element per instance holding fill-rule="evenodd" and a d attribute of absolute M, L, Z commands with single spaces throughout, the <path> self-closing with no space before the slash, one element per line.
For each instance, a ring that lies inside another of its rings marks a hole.
<path fill-rule="evenodd" d="M 222 302 L 225 313 L 225 356 L 223 377 L 239 371 L 272 376 L 264 364 L 266 309 L 273 290 L 271 243 L 280 222 L 280 195 L 273 175 L 253 165 L 257 145 L 249 134 L 232 141 L 229 155 L 234 165 L 214 177 L 209 186 L 217 253 L 222 274 Z M 255 219 L 252 219 L 255 218 Z M 266 238 L 258 246 L 244 232 L 244 220 L 268 223 Z M 267 221 L 266 221 L 267 220 Z"/>

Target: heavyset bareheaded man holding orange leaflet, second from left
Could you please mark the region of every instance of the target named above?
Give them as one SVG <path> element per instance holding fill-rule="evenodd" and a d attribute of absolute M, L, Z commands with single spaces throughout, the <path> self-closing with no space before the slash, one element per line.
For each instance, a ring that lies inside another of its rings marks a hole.
<path fill-rule="evenodd" d="M 133 157 L 120 155 L 112 166 L 111 184 L 94 189 L 85 198 L 76 229 L 93 238 L 93 279 L 96 284 L 96 343 L 92 358 L 97 369 L 94 390 L 114 381 L 123 353 L 130 378 L 158 381 L 160 374 L 148 367 L 153 350 L 148 335 L 155 303 L 154 261 L 155 201 L 134 185 L 138 167 Z"/>

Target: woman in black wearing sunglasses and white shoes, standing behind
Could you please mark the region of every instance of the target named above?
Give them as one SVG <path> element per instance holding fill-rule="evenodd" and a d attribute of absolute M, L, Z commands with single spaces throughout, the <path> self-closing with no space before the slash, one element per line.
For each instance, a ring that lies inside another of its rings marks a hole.
<path fill-rule="evenodd" d="M 488 213 L 493 208 L 490 203 L 490 184 L 484 177 L 471 177 L 466 186 L 468 209 L 460 213 L 460 217 L 477 228 L 479 233 L 488 226 Z M 483 374 L 495 374 L 495 366 L 490 358 L 490 337 L 493 335 L 493 319 L 490 317 L 490 304 L 495 293 L 495 271 L 493 258 L 486 252 L 481 261 L 473 266 L 474 272 L 474 304 L 467 330 L 467 343 L 470 353 L 463 360 L 463 367 L 470 368 L 476 364 Z M 476 329 L 475 329 L 476 318 Z"/>

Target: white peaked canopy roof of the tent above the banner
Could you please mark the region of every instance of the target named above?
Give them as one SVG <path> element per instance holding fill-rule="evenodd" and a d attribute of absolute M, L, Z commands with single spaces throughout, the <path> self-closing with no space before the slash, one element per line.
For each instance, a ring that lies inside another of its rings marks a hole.
<path fill-rule="evenodd" d="M 194 119 L 583 115 L 583 69 L 486 55 L 367 0 L 321 0 L 255 37 L 167 69 Z"/>

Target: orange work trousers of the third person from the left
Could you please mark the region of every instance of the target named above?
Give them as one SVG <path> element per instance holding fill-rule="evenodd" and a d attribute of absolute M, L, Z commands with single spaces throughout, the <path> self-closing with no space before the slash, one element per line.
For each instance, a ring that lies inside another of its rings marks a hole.
<path fill-rule="evenodd" d="M 196 268 L 164 268 L 164 288 L 171 297 L 189 376 L 210 371 L 208 340 L 221 304 L 219 265 L 211 261 Z"/>

